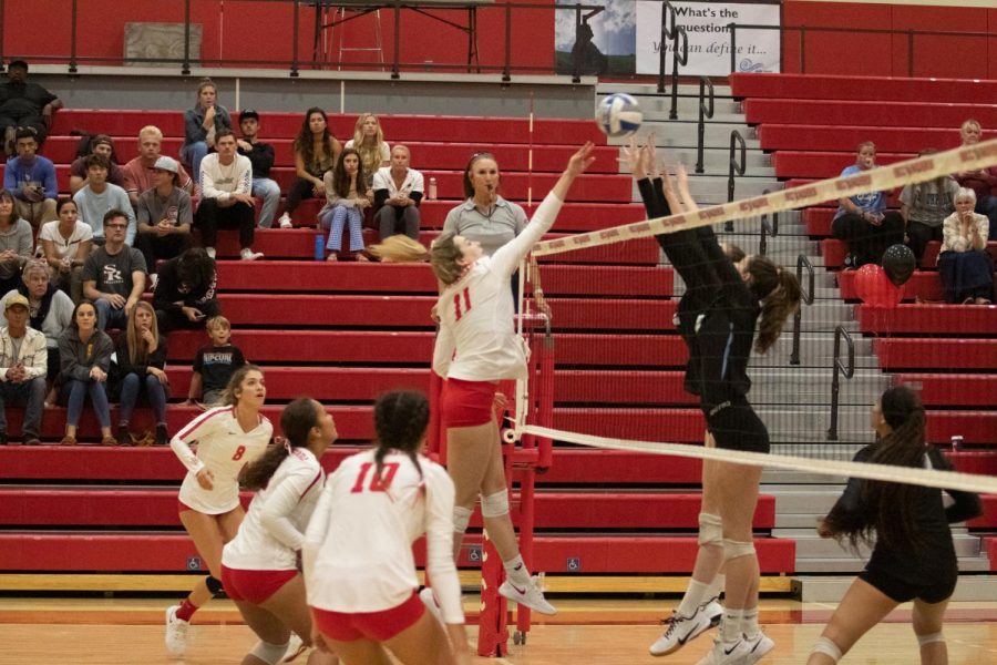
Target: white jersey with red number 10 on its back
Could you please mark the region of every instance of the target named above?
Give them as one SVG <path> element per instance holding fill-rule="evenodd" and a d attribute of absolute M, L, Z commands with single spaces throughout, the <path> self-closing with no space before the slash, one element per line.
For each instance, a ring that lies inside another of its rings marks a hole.
<path fill-rule="evenodd" d="M 420 475 L 420 469 L 422 474 Z M 374 451 L 343 460 L 308 524 L 302 559 L 308 604 L 330 612 L 381 612 L 419 587 L 412 543 L 426 535 L 433 587 L 446 623 L 463 623 L 453 563 L 453 481 L 439 464 Z"/>

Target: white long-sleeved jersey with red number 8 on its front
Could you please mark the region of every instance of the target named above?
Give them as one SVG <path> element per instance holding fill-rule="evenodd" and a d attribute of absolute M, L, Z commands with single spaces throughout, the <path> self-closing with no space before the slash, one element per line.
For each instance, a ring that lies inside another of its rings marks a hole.
<path fill-rule="evenodd" d="M 176 433 L 169 447 L 187 468 L 179 500 L 208 515 L 227 513 L 239 504 L 239 471 L 267 450 L 274 426 L 263 415 L 257 424 L 244 432 L 234 407 L 208 409 Z M 197 451 L 191 443 L 197 441 Z M 214 474 L 210 490 L 197 482 L 197 472 L 208 469 Z"/>

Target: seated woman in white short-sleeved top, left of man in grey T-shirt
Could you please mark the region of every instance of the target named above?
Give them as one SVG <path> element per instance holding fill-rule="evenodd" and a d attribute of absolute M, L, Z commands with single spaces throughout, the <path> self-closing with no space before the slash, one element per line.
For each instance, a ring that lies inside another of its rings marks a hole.
<path fill-rule="evenodd" d="M 83 299 L 83 263 L 93 247 L 93 229 L 76 215 L 76 202 L 62 198 L 55 207 L 59 218 L 47 222 L 38 234 L 53 285 L 72 297 Z"/>

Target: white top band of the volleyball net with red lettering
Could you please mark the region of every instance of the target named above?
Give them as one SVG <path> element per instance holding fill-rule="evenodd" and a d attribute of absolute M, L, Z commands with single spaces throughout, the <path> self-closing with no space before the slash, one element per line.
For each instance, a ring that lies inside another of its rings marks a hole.
<path fill-rule="evenodd" d="M 743 219 L 748 216 L 760 216 L 765 213 L 771 214 L 802 208 L 826 201 L 855 196 L 856 194 L 894 190 L 906 184 L 923 183 L 943 175 L 985 168 L 994 164 L 997 164 L 997 139 L 972 146 L 957 147 L 924 157 L 897 162 L 888 166 L 871 168 L 847 177 L 832 177 L 791 190 L 781 190 L 761 196 L 703 207 L 681 215 L 656 217 L 602 231 L 580 233 L 566 238 L 543 241 L 534 245 L 533 254 L 535 256 L 559 254 L 562 252 L 585 249 L 623 241 L 648 238 L 661 233 L 674 233 L 721 222 Z"/>

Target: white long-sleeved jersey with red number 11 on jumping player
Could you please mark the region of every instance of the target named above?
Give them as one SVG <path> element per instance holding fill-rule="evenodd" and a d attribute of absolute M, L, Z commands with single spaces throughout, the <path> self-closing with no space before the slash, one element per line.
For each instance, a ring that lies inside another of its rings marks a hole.
<path fill-rule="evenodd" d="M 465 381 L 518 379 L 526 375 L 523 339 L 516 335 L 510 277 L 554 224 L 563 202 L 552 192 L 530 224 L 491 257 L 483 256 L 436 301 L 440 331 L 433 370 Z"/>

